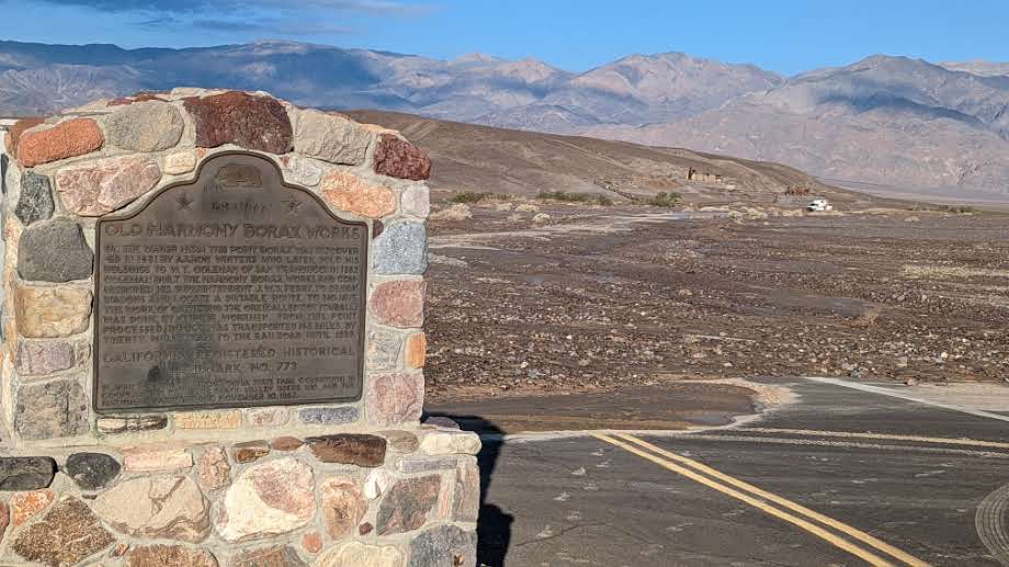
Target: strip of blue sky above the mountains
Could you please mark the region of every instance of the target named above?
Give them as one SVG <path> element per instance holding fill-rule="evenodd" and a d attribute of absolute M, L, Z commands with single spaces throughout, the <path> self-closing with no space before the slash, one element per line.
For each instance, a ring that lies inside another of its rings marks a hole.
<path fill-rule="evenodd" d="M 784 73 L 885 53 L 1009 60 L 1009 1 L 0 0 L 0 37 L 123 47 L 286 38 L 587 70 L 687 52 Z"/>

